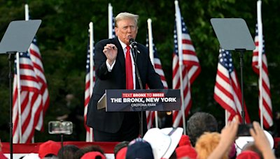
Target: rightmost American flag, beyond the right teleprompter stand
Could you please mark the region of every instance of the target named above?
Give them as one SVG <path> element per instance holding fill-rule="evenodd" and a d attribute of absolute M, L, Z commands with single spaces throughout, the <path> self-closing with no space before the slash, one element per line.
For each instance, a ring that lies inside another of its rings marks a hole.
<path fill-rule="evenodd" d="M 262 106 L 263 106 L 263 125 L 265 128 L 269 128 L 273 125 L 272 119 L 272 102 L 270 98 L 270 84 L 267 69 L 267 56 L 265 54 L 265 40 L 262 36 Z M 260 76 L 260 70 L 258 66 L 258 24 L 255 26 L 255 50 L 253 50 L 252 66 L 255 73 Z M 259 88 L 260 94 L 260 88 Z M 260 108 L 259 108 L 260 115 Z"/>

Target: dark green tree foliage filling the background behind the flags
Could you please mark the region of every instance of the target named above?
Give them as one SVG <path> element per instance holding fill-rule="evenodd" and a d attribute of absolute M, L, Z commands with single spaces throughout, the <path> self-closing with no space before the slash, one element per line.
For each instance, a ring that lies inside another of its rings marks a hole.
<path fill-rule="evenodd" d="M 108 4 L 113 6 L 113 14 L 129 12 L 139 15 L 137 41 L 146 44 L 147 19 L 153 20 L 153 38 L 162 62 L 169 89 L 172 89 L 172 53 L 175 8 L 174 1 L 117 1 L 117 0 L 0 0 L 0 36 L 3 36 L 9 22 L 25 20 L 24 6 L 29 4 L 31 19 L 43 20 L 37 32 L 38 46 L 41 51 L 45 77 L 50 91 L 50 105 L 45 114 L 45 131 L 36 132 L 35 141 L 59 140 L 48 135 L 48 121 L 57 120 L 57 116 L 78 112 L 83 115 L 85 88 L 85 61 L 87 53 L 88 24 L 94 24 L 94 41 L 108 38 Z M 280 19 L 276 0 L 262 1 L 262 23 L 265 35 L 265 47 L 269 64 L 269 79 L 273 111 L 279 111 L 279 50 Z M 224 109 L 214 100 L 214 84 L 218 63 L 219 43 L 210 19 L 213 17 L 239 17 L 246 20 L 252 37 L 255 36 L 256 1 L 235 0 L 194 0 L 179 1 L 181 15 L 192 38 L 200 59 L 202 71 L 192 85 L 193 106 L 191 114 L 197 111 L 209 112 L 223 126 Z M 258 75 L 251 68 L 252 52 L 244 53 L 244 99 L 251 121 L 258 117 Z M 240 79 L 239 53 L 232 52 L 237 76 Z M 240 82 L 240 80 L 239 80 Z M 0 55 L 0 136 L 2 142 L 8 142 L 9 133 L 9 85 L 8 60 Z M 67 105 L 66 95 L 73 94 L 71 104 Z M 190 116 L 190 115 L 189 115 Z M 188 116 L 187 116 L 188 118 Z M 83 122 L 80 121 L 80 134 L 68 137 L 69 140 L 85 140 Z M 270 128 L 269 130 L 273 130 Z M 78 133 L 78 132 L 75 132 Z"/>

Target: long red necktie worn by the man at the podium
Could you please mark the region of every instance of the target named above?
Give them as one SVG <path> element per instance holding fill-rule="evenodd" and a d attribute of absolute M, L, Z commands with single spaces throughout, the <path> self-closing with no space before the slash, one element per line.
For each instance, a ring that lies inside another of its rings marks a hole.
<path fill-rule="evenodd" d="M 126 73 L 126 88 L 134 89 L 133 86 L 133 74 L 132 74 L 132 61 L 130 58 L 130 45 L 127 45 L 127 53 L 125 54 L 125 73 Z"/>

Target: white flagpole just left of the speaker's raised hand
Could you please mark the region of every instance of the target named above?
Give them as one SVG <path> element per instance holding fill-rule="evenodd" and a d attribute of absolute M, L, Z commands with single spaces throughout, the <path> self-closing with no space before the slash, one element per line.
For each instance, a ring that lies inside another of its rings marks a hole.
<path fill-rule="evenodd" d="M 93 91 L 93 23 L 90 22 L 90 98 Z M 93 142 L 93 130 L 90 128 L 90 142 Z"/>

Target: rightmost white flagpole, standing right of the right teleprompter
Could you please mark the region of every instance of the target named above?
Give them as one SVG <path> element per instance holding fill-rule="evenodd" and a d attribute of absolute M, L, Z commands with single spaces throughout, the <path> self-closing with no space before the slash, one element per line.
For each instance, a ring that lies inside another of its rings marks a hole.
<path fill-rule="evenodd" d="M 260 90 L 260 126 L 263 129 L 263 105 L 262 105 L 262 1 L 257 2 L 257 13 L 258 13 L 258 66 L 260 70 L 259 75 L 259 90 Z"/>

